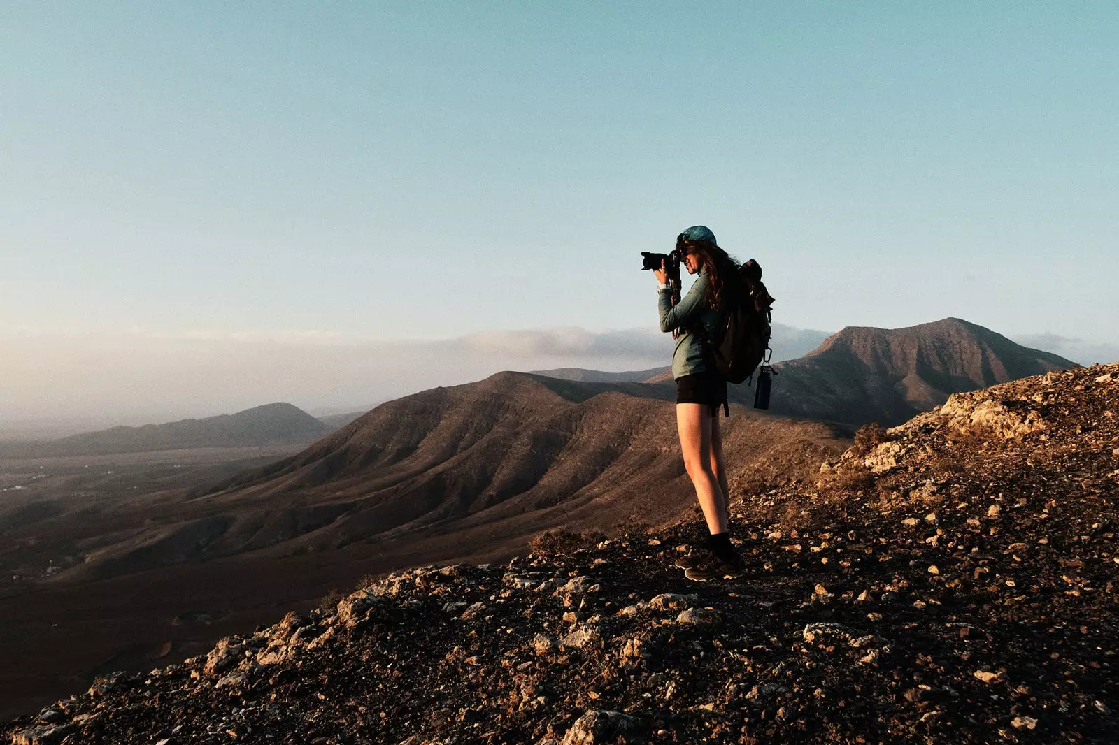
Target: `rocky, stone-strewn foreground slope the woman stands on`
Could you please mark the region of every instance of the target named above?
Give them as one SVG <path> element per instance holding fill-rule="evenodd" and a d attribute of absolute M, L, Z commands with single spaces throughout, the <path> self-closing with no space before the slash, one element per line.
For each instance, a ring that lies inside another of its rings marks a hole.
<path fill-rule="evenodd" d="M 9 723 L 13 743 L 1113 743 L 1119 365 L 867 427 L 818 488 L 364 583 Z"/>

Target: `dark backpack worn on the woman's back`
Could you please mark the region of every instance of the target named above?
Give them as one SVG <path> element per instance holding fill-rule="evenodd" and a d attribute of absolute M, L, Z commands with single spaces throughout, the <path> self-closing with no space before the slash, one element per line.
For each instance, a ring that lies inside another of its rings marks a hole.
<path fill-rule="evenodd" d="M 726 326 L 717 342 L 708 345 L 715 370 L 727 383 L 742 383 L 767 358 L 770 342 L 770 308 L 773 298 L 762 284 L 762 267 L 754 260 L 744 263 L 737 276 L 724 285 L 727 298 Z"/>

